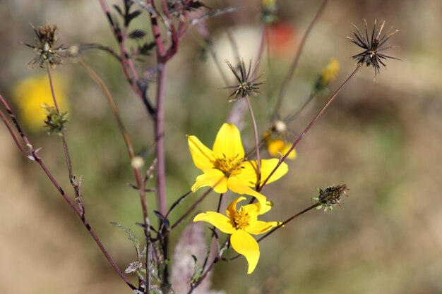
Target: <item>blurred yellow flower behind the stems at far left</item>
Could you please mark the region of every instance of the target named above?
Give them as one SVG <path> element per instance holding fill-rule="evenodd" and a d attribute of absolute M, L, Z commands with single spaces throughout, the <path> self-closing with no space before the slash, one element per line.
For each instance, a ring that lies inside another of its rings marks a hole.
<path fill-rule="evenodd" d="M 63 113 L 68 110 L 64 80 L 53 77 L 52 84 L 56 102 Z M 18 105 L 20 119 L 28 129 L 43 130 L 47 111 L 42 105 L 54 106 L 47 75 L 36 75 L 21 80 L 13 88 L 13 97 Z"/>

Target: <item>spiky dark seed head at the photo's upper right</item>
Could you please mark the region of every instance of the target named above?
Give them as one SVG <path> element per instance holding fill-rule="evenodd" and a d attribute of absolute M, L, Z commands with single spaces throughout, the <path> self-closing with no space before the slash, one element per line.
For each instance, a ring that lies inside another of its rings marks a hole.
<path fill-rule="evenodd" d="M 357 61 L 357 64 L 365 63 L 367 67 L 373 66 L 374 75 L 376 75 L 381 70 L 381 66 L 379 63 L 381 63 L 384 67 L 386 67 L 386 63 L 384 63 L 384 61 L 386 61 L 387 59 L 397 59 L 395 57 L 381 54 L 379 52 L 394 47 L 390 46 L 390 47 L 381 48 L 381 46 L 385 44 L 388 41 L 388 39 L 390 39 L 391 36 L 395 35 L 395 33 L 398 32 L 398 30 L 395 30 L 393 32 L 393 27 L 390 27 L 390 30 L 388 30 L 388 32 L 386 32 L 381 36 L 383 26 L 386 24 L 386 21 L 384 20 L 380 27 L 376 27 L 376 20 L 374 20 L 373 30 L 371 31 L 371 36 L 369 36 L 369 31 L 367 28 L 368 25 L 365 19 L 364 23 L 365 23 L 365 36 L 362 35 L 358 27 L 354 25 L 354 27 L 356 27 L 357 30 L 357 32 L 353 32 L 354 37 L 356 37 L 356 39 L 348 37 L 349 39 L 352 40 L 354 44 L 357 44 L 357 46 L 365 50 L 362 53 L 352 56 L 352 60 Z"/>

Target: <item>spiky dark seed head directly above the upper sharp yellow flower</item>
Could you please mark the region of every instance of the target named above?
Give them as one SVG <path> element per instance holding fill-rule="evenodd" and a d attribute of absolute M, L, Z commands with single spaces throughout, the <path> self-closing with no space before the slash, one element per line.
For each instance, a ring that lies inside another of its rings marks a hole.
<path fill-rule="evenodd" d="M 233 97 L 229 101 L 235 101 L 240 98 L 250 97 L 252 94 L 256 96 L 259 92 L 259 85 L 262 85 L 262 82 L 256 82 L 258 78 L 253 80 L 251 79 L 251 61 L 249 63 L 249 68 L 246 68 L 244 61 L 238 61 L 238 70 L 232 66 L 232 63 L 226 61 L 227 66 L 229 66 L 230 71 L 235 75 L 239 85 L 227 87 L 228 89 L 236 89 L 229 97 Z M 239 71 L 239 73 L 238 73 Z"/>

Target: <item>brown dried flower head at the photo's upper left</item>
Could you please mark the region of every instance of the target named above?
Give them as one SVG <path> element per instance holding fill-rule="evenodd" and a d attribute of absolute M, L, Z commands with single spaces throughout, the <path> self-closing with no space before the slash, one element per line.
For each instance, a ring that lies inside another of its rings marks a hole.
<path fill-rule="evenodd" d="M 60 52 L 64 51 L 65 48 L 62 46 L 55 47 L 57 37 L 57 27 L 55 24 L 46 23 L 46 25 L 41 25 L 39 27 L 34 27 L 35 35 L 35 45 L 25 44 L 26 46 L 34 49 L 35 57 L 29 63 L 30 67 L 34 67 L 36 63 L 39 64 L 40 68 L 44 68 L 47 64 L 49 67 L 54 68 L 62 63 Z"/>

